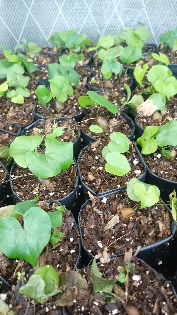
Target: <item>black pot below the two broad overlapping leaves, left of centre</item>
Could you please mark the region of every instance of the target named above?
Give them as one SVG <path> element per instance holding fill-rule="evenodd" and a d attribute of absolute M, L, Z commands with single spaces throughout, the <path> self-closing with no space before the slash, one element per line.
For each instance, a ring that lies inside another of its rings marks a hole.
<path fill-rule="evenodd" d="M 75 158 L 74 158 L 74 163 L 77 166 Z M 19 201 L 23 201 L 13 189 L 13 176 L 12 175 L 13 175 L 13 172 L 16 169 L 16 167 L 17 167 L 17 164 L 13 163 L 13 166 L 12 166 L 11 171 L 10 171 L 10 186 L 11 186 L 11 190 L 12 190 L 13 201 L 15 203 L 17 203 Z M 58 202 L 62 203 L 62 205 L 65 205 L 65 207 L 67 209 L 72 211 L 72 214 L 73 214 L 74 218 L 76 219 L 77 215 L 78 215 L 78 211 L 77 211 L 77 209 L 75 209 L 75 204 L 77 203 L 78 193 L 79 193 L 79 175 L 77 175 L 77 177 L 76 177 L 74 190 L 72 192 L 70 192 L 67 196 L 65 196 L 61 199 L 58 199 L 58 200 L 45 200 L 45 202 L 56 203 L 56 205 L 58 204 Z M 32 200 L 32 199 L 28 199 L 28 200 Z"/>

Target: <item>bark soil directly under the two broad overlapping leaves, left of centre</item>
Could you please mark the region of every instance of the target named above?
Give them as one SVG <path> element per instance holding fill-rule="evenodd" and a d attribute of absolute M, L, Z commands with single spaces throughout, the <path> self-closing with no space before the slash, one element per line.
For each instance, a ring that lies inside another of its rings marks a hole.
<path fill-rule="evenodd" d="M 46 180 L 42 185 L 37 182 L 34 174 L 28 174 L 31 174 L 28 168 L 19 166 L 13 173 L 18 176 L 13 179 L 13 189 L 22 200 L 33 200 L 37 195 L 40 195 L 40 200 L 59 200 L 74 190 L 77 168 L 72 162 L 68 169 L 52 177 L 51 183 Z"/>

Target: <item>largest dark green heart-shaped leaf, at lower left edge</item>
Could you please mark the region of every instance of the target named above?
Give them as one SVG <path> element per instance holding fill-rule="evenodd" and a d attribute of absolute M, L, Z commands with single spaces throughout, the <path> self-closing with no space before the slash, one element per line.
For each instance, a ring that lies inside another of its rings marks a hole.
<path fill-rule="evenodd" d="M 37 258 L 51 237 L 51 220 L 37 207 L 24 214 L 24 228 L 15 218 L 0 221 L 0 249 L 9 258 L 22 258 L 37 265 Z"/>

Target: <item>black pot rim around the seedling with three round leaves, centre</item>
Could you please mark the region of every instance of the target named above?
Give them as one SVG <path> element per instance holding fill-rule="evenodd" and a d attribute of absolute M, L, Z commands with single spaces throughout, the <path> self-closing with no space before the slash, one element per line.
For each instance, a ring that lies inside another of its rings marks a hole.
<path fill-rule="evenodd" d="M 103 142 L 103 141 L 102 141 Z M 85 198 L 88 198 L 88 192 L 91 192 L 91 194 L 93 196 L 105 196 L 105 195 L 109 195 L 109 194 L 112 194 L 114 192 L 117 192 L 117 191 L 120 191 L 124 188 L 126 188 L 126 186 L 123 186 L 123 187 L 120 187 L 120 188 L 115 188 L 115 189 L 112 189 L 112 190 L 109 190 L 109 191 L 105 191 L 105 192 L 99 192 L 99 193 L 95 193 L 92 189 L 90 189 L 84 182 L 83 182 L 83 179 L 82 179 L 82 174 L 81 174 L 81 169 L 80 169 L 80 166 L 79 166 L 79 159 L 81 158 L 83 152 L 88 148 L 88 146 L 86 146 L 85 148 L 83 148 L 78 156 L 78 173 L 79 173 L 79 179 L 80 179 L 80 183 L 81 183 L 81 191 L 82 191 L 82 194 L 85 196 Z M 145 181 L 145 177 L 146 177 L 146 163 L 144 163 L 144 160 L 142 158 L 142 155 L 141 153 L 139 152 L 137 146 L 136 146 L 136 152 L 137 152 L 137 156 L 139 157 L 140 159 L 140 162 L 142 163 L 142 166 L 143 166 L 143 170 L 144 170 L 144 173 L 138 177 L 138 179 L 142 182 Z"/>

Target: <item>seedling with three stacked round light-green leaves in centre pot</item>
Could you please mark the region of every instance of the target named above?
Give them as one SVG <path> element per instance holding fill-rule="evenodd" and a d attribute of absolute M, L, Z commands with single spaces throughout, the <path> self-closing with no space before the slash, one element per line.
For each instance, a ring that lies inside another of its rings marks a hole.
<path fill-rule="evenodd" d="M 105 169 L 113 175 L 126 175 L 130 172 L 131 167 L 126 157 L 121 153 L 129 152 L 129 140 L 121 132 L 112 132 L 110 139 L 112 141 L 102 150 L 102 155 L 107 162 Z"/>

